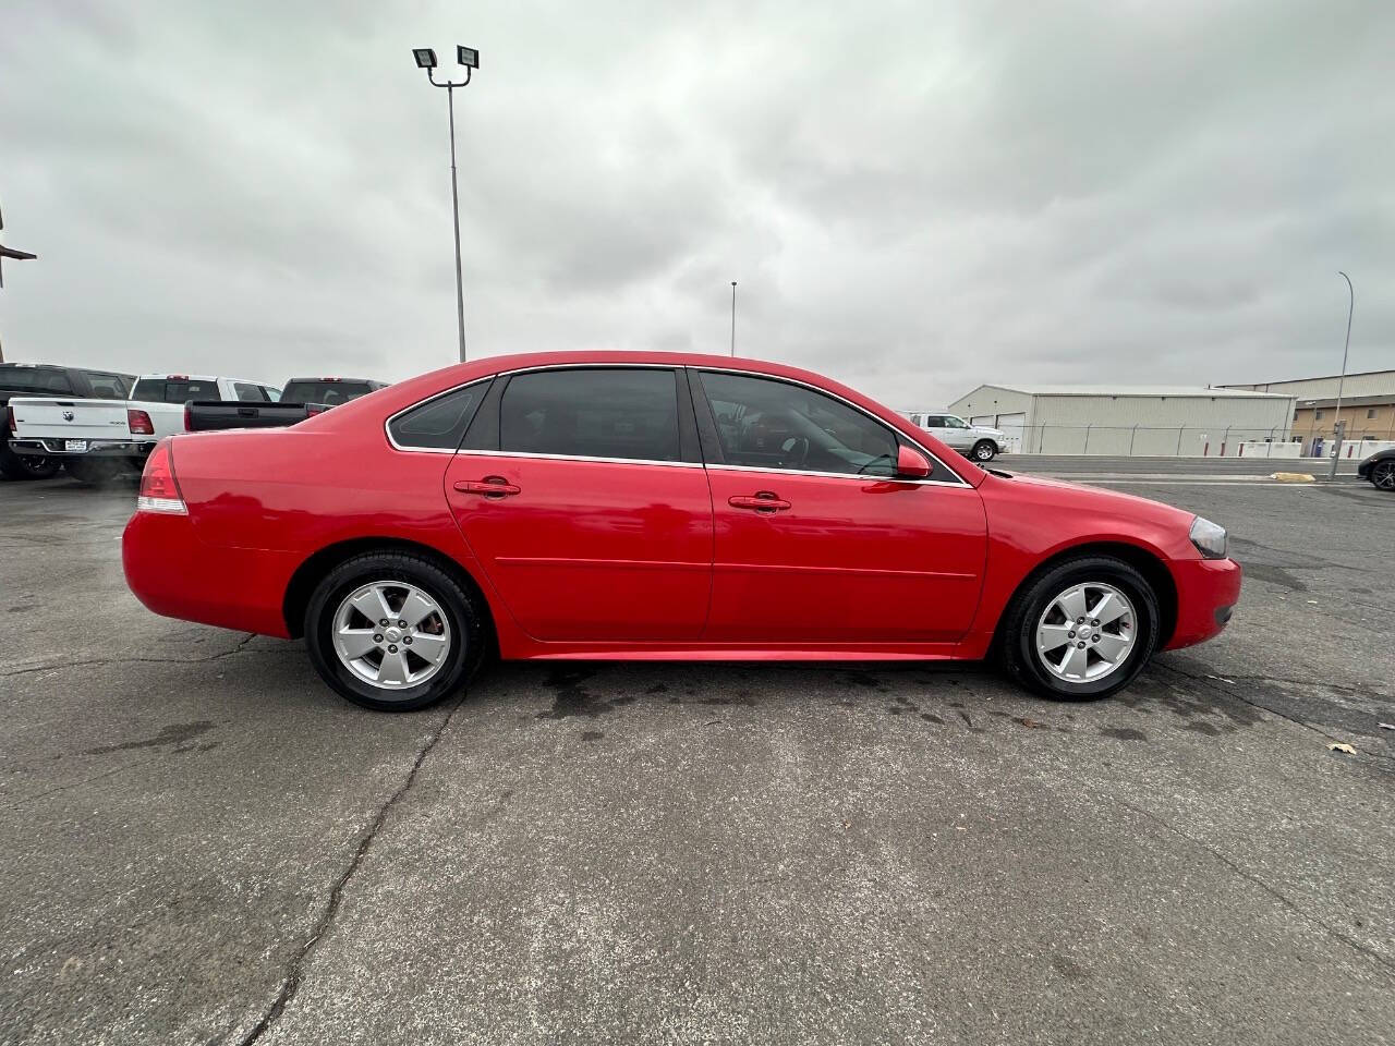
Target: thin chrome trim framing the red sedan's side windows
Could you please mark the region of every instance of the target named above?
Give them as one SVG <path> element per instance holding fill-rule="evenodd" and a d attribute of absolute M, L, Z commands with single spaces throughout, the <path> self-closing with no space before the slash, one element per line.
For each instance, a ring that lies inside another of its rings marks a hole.
<path fill-rule="evenodd" d="M 822 393 L 824 396 L 830 396 L 830 397 L 838 400 L 840 403 L 845 403 L 847 406 L 852 407 L 859 414 L 864 414 L 865 417 L 872 418 L 872 421 L 875 421 L 876 424 L 882 425 L 883 428 L 890 428 L 883 418 L 879 418 L 872 411 L 865 410 L 864 407 L 859 407 L 857 403 L 854 403 L 852 400 L 847 399 L 845 396 L 840 396 L 836 392 L 819 388 L 817 385 L 815 385 L 812 382 L 801 381 L 799 378 L 787 378 L 783 374 L 766 374 L 763 371 L 742 371 L 742 370 L 738 370 L 735 367 L 703 367 L 703 365 L 692 365 L 692 364 L 682 364 L 682 363 L 638 363 L 638 361 L 636 363 L 615 363 L 615 361 L 605 361 L 605 363 L 547 363 L 547 364 L 537 364 L 534 367 L 513 367 L 513 368 L 506 370 L 506 371 L 495 371 L 494 374 L 487 374 L 487 375 L 483 375 L 480 378 L 473 378 L 472 381 L 460 382 L 459 385 L 452 385 L 449 389 L 444 389 L 441 392 L 432 393 L 431 396 L 427 396 L 425 399 L 420 399 L 416 403 L 412 403 L 412 404 L 403 407 L 402 410 L 399 410 L 399 411 L 396 411 L 393 414 L 389 414 L 388 418 L 382 423 L 382 431 L 384 431 L 384 435 L 386 435 L 388 444 L 392 446 L 392 449 L 393 450 L 399 450 L 402 453 L 431 453 L 431 455 L 458 455 L 459 453 L 459 455 L 472 455 L 472 456 L 476 456 L 476 457 L 478 457 L 478 456 L 492 456 L 492 457 L 537 457 L 537 459 L 541 459 L 541 460 L 551 460 L 551 462 L 605 462 L 605 463 L 610 463 L 610 464 L 665 464 L 665 466 L 677 467 L 677 469 L 724 469 L 724 470 L 730 470 L 730 471 L 783 473 L 783 474 L 788 474 L 788 476 L 819 476 L 819 477 L 826 477 L 826 478 L 831 478 L 831 480 L 861 480 L 864 483 L 866 483 L 868 480 L 886 480 L 886 481 L 894 481 L 894 483 L 918 483 L 918 484 L 923 484 L 923 485 L 929 485 L 929 487 L 968 487 L 970 490 L 974 488 L 974 484 L 971 484 L 968 480 L 965 480 L 963 476 L 960 476 L 958 471 L 956 471 L 954 469 L 951 469 L 950 466 L 947 466 L 940 459 L 939 455 L 936 455 L 933 450 L 930 450 L 929 448 L 926 448 L 918 439 L 915 439 L 912 437 L 907 437 L 900 430 L 891 430 L 891 431 L 896 432 L 900 437 L 904 437 L 908 444 L 914 445 L 921 453 L 923 453 L 932 462 L 935 462 L 942 469 L 944 469 L 950 476 L 954 477 L 954 481 L 951 483 L 951 481 L 947 481 L 947 480 L 910 480 L 910 478 L 903 478 L 903 477 L 897 477 L 897 476 L 865 476 L 865 474 L 864 476 L 858 476 L 857 473 L 820 473 L 820 471 L 805 471 L 805 470 L 801 470 L 801 469 L 762 469 L 759 466 L 752 466 L 752 464 L 720 464 L 720 463 L 711 463 L 711 462 L 657 462 L 657 460 L 647 459 L 647 457 L 589 457 L 589 456 L 583 456 L 583 455 L 540 455 L 540 453 L 527 453 L 527 452 L 523 452 L 523 450 L 463 450 L 463 449 L 446 450 L 445 448 L 441 448 L 441 446 L 403 446 L 402 444 L 399 444 L 396 439 L 392 438 L 392 431 L 391 431 L 389 425 L 392 425 L 393 421 L 396 421 L 399 417 L 402 417 L 403 414 L 406 414 L 409 410 L 416 410 L 417 407 L 420 407 L 420 406 L 423 406 L 425 403 L 430 403 L 431 400 L 441 399 L 442 396 L 449 396 L 452 392 L 459 392 L 460 389 L 469 388 L 470 385 L 480 385 L 481 382 L 494 381 L 495 378 L 504 378 L 506 375 L 513 375 L 513 374 L 529 374 L 529 372 L 533 372 L 533 371 L 575 371 L 575 370 L 580 370 L 583 367 L 610 368 L 610 370 L 617 370 L 618 368 L 618 370 L 632 370 L 632 371 L 633 370 L 674 371 L 675 372 L 675 378 L 677 378 L 677 371 L 678 370 L 691 370 L 691 371 L 711 372 L 711 374 L 735 374 L 735 375 L 744 377 L 744 378 L 766 378 L 767 381 L 783 381 L 783 382 L 785 382 L 788 385 L 799 385 L 802 388 L 810 389 L 812 392 L 817 392 L 817 393 Z M 703 397 L 706 399 L 706 395 L 707 395 L 706 389 L 703 389 L 702 392 L 703 392 Z"/>

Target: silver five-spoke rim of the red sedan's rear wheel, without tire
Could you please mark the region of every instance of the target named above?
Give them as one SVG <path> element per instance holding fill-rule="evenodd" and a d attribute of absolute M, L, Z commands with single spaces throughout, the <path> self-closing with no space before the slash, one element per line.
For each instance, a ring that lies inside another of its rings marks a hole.
<path fill-rule="evenodd" d="M 406 582 L 371 582 L 343 598 L 333 616 L 339 662 L 381 690 L 417 686 L 449 660 L 451 623 L 441 604 Z"/>

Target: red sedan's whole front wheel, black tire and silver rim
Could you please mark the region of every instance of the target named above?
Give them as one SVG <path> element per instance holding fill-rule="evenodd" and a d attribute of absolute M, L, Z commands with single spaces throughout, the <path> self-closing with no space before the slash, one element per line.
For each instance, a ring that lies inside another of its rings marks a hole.
<path fill-rule="evenodd" d="M 1027 586 L 1000 633 L 1010 675 L 1060 700 L 1095 700 L 1133 682 L 1158 646 L 1158 597 L 1133 566 L 1067 559 Z"/>

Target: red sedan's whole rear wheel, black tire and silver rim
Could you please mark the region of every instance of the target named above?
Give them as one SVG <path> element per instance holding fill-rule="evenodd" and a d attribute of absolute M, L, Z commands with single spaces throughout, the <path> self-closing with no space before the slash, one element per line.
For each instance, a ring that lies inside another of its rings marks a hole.
<path fill-rule="evenodd" d="M 354 704 L 410 711 L 458 693 L 485 647 L 478 597 L 424 556 L 368 552 L 331 570 L 306 608 L 315 669 Z"/>

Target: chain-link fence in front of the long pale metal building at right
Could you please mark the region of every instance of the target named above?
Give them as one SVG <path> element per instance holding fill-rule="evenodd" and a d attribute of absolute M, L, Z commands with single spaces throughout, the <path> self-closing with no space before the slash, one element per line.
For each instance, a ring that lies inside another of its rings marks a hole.
<path fill-rule="evenodd" d="M 1018 425 L 1004 430 L 1010 453 L 1102 457 L 1322 457 L 1331 432 L 1290 437 L 1278 428 L 1187 425 Z M 1395 442 L 1395 428 L 1356 428 L 1343 437 L 1342 457 L 1363 456 Z M 1348 449 L 1350 446 L 1350 450 Z"/>

